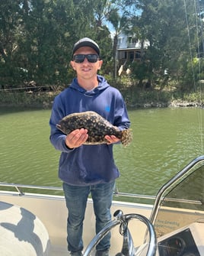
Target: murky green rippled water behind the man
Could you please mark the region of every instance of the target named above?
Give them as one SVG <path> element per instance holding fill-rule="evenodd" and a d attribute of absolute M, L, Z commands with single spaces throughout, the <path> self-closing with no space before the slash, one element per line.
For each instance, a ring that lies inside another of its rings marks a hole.
<path fill-rule="evenodd" d="M 59 151 L 49 143 L 49 115 L 50 110 L 0 109 L 1 182 L 61 186 Z M 132 144 L 114 146 L 120 192 L 155 195 L 204 154 L 204 109 L 129 110 L 129 118 Z"/>

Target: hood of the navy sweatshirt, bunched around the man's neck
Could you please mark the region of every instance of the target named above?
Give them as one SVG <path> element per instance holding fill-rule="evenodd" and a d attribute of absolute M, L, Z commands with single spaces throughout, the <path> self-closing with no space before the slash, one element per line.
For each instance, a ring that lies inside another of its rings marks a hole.
<path fill-rule="evenodd" d="M 98 92 L 107 89 L 110 85 L 107 83 L 107 80 L 104 78 L 104 76 L 97 75 L 98 80 L 98 86 L 94 89 L 91 89 L 90 91 L 87 91 L 86 89 L 82 88 L 78 84 L 78 79 L 75 78 L 72 80 L 72 84 L 69 86 L 72 89 L 76 89 L 79 92 L 83 93 L 86 96 L 95 96 Z"/>

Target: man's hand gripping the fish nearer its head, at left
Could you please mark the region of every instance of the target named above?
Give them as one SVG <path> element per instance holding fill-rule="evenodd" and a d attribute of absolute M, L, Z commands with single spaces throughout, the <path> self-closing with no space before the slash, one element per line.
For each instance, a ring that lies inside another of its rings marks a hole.
<path fill-rule="evenodd" d="M 70 132 L 66 136 L 65 144 L 69 148 L 80 147 L 88 139 L 88 130 L 81 128 Z"/>

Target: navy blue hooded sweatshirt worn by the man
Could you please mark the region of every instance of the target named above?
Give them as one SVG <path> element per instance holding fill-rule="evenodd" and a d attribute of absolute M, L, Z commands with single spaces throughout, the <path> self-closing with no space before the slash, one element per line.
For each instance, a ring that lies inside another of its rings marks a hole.
<path fill-rule="evenodd" d="M 103 76 L 91 91 L 78 85 L 77 79 L 56 96 L 49 120 L 50 141 L 62 152 L 59 159 L 59 178 L 65 183 L 88 186 L 109 183 L 120 176 L 113 160 L 113 144 L 81 145 L 74 149 L 65 146 L 65 134 L 56 128 L 60 119 L 76 112 L 94 111 L 120 130 L 129 128 L 126 105 L 120 92 L 110 86 Z M 108 134 L 107 134 L 108 135 Z"/>

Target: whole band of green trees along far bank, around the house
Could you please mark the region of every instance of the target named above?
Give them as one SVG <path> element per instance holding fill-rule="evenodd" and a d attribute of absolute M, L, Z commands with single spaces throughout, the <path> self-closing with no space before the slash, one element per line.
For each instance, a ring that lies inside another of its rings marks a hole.
<path fill-rule="evenodd" d="M 158 92 L 174 83 L 175 89 L 189 93 L 200 89 L 204 79 L 203 1 L 1 0 L 0 17 L 0 89 L 29 81 L 38 86 L 71 83 L 72 46 L 81 37 L 100 44 L 100 73 L 113 76 L 124 93 L 131 84 L 132 102 L 139 100 L 137 89 L 145 89 L 151 98 L 147 84 Z M 114 40 L 107 21 L 115 29 Z M 116 79 L 121 31 L 142 44 L 140 61 L 129 63 L 132 73 L 126 86 Z"/>

